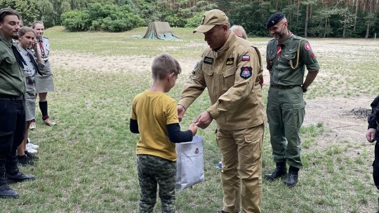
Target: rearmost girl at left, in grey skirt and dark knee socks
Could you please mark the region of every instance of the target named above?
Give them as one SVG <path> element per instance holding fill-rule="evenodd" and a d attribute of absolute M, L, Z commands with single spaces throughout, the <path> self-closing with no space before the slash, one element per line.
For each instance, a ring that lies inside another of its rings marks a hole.
<path fill-rule="evenodd" d="M 41 70 L 43 76 L 36 74 L 35 78 L 35 88 L 36 93 L 39 97 L 39 109 L 41 109 L 42 121 L 48 126 L 53 126 L 55 123 L 51 121 L 50 116 L 48 115 L 48 101 L 47 95 L 48 92 L 54 92 L 54 81 L 53 73 L 51 72 L 51 64 L 49 60 L 50 54 L 50 41 L 44 36 L 44 23 L 41 21 L 35 21 L 32 24 L 32 29 L 36 31 L 37 34 L 37 50 L 39 55 L 41 55 L 44 60 L 45 67 Z M 35 128 L 35 122 L 31 123 L 32 128 Z"/>

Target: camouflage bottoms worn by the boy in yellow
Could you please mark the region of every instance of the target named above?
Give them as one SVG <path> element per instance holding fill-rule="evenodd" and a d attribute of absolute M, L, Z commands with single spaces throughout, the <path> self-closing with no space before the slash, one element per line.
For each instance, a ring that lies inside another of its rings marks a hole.
<path fill-rule="evenodd" d="M 153 212 L 157 201 L 157 185 L 162 212 L 175 212 L 176 162 L 157 156 L 137 155 L 138 180 L 140 181 L 140 213 Z"/>

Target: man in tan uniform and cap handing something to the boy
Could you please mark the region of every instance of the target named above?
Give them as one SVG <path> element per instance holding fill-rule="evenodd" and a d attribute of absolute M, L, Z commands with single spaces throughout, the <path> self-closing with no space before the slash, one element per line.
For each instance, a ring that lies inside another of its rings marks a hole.
<path fill-rule="evenodd" d="M 260 212 L 262 198 L 261 149 L 266 119 L 259 77 L 260 53 L 230 31 L 220 10 L 206 12 L 194 32 L 204 33 L 209 48 L 185 84 L 178 116 L 208 88 L 211 107 L 195 123 L 207 128 L 217 122 L 217 143 L 222 153 L 223 209 L 220 212 Z"/>

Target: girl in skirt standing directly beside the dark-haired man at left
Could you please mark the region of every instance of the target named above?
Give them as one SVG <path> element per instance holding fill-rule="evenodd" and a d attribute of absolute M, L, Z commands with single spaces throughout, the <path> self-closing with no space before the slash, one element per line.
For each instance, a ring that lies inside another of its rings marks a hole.
<path fill-rule="evenodd" d="M 18 163 L 21 165 L 33 165 L 33 159 L 36 159 L 37 157 L 34 156 L 33 153 L 29 153 L 29 151 L 27 151 L 27 139 L 29 135 L 29 125 L 36 115 L 36 90 L 34 88 L 34 76 L 37 72 L 39 72 L 39 65 L 34 59 L 34 53 L 32 53 L 32 50 L 30 50 L 30 48 L 34 48 L 37 58 L 39 59 L 40 67 L 43 68 L 44 65 L 41 56 L 39 55 L 38 51 L 36 51 L 36 32 L 34 29 L 30 27 L 21 27 L 21 29 L 18 30 L 18 41 L 18 49 L 20 51 L 20 55 L 26 62 L 26 64 L 24 64 L 24 74 L 27 83 L 25 93 L 26 128 L 24 139 L 17 149 Z M 31 143 L 29 143 L 28 146 L 31 146 L 31 148 L 34 149 L 38 148 L 37 145 Z"/>

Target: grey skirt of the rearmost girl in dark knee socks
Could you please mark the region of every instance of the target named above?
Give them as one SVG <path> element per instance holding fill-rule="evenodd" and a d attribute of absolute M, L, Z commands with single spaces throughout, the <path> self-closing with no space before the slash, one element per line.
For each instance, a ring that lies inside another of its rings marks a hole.
<path fill-rule="evenodd" d="M 50 61 L 45 62 L 44 70 L 41 70 L 44 76 L 36 74 L 36 93 L 54 92 L 53 73 L 51 72 Z"/>

